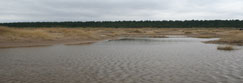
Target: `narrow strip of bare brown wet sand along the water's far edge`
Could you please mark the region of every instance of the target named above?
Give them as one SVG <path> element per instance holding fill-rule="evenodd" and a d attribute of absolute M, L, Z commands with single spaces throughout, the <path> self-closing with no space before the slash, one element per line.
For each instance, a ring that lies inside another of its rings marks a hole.
<path fill-rule="evenodd" d="M 178 35 L 170 35 L 170 36 L 178 36 Z M 188 35 L 183 35 L 186 37 L 192 37 Z M 114 39 L 119 39 L 123 36 L 119 37 L 113 37 L 113 38 L 105 38 L 105 39 L 99 39 L 99 40 L 66 40 L 66 41 L 60 41 L 60 40 L 55 40 L 55 41 L 37 41 L 37 42 L 11 42 L 11 43 L 0 43 L 0 49 L 3 48 L 22 48 L 22 47 L 46 47 L 46 46 L 53 46 L 53 45 L 88 45 L 88 44 L 93 44 L 97 43 L 103 40 L 114 40 Z M 168 38 L 166 36 L 163 37 L 149 37 L 149 36 L 127 36 L 127 37 L 142 37 L 142 38 Z M 192 38 L 198 38 L 198 37 L 192 37 Z M 210 41 L 206 41 L 203 43 L 211 43 Z M 217 43 L 214 43 L 217 44 Z"/>

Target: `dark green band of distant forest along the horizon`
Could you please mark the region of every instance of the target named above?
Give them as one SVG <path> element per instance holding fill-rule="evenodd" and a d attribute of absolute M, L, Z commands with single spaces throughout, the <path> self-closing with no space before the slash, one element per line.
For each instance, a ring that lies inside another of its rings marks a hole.
<path fill-rule="evenodd" d="M 15 22 L 0 23 L 8 27 L 110 27 L 110 28 L 243 28 L 243 20 L 185 21 L 88 21 L 88 22 Z"/>

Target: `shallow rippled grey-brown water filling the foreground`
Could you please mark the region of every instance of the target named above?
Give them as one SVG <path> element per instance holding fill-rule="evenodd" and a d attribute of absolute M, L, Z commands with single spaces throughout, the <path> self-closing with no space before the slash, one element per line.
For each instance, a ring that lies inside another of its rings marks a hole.
<path fill-rule="evenodd" d="M 207 40 L 126 38 L 0 49 L 0 83 L 243 83 L 242 47 L 219 51 L 202 43 Z"/>

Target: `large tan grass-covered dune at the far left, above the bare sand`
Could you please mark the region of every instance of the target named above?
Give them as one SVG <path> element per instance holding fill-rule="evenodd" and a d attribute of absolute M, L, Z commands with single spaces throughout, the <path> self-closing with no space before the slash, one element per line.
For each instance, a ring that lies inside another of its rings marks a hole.
<path fill-rule="evenodd" d="M 46 41 L 46 40 L 75 40 L 75 39 L 95 39 L 93 33 L 82 29 L 66 28 L 38 28 L 19 29 L 0 27 L 0 39 L 2 41 L 22 40 L 22 41 Z"/>

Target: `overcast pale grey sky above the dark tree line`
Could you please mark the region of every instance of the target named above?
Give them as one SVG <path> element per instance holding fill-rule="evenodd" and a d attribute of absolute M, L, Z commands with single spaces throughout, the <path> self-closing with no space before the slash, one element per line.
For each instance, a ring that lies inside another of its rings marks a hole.
<path fill-rule="evenodd" d="M 0 22 L 243 19 L 243 0 L 0 0 Z"/>

